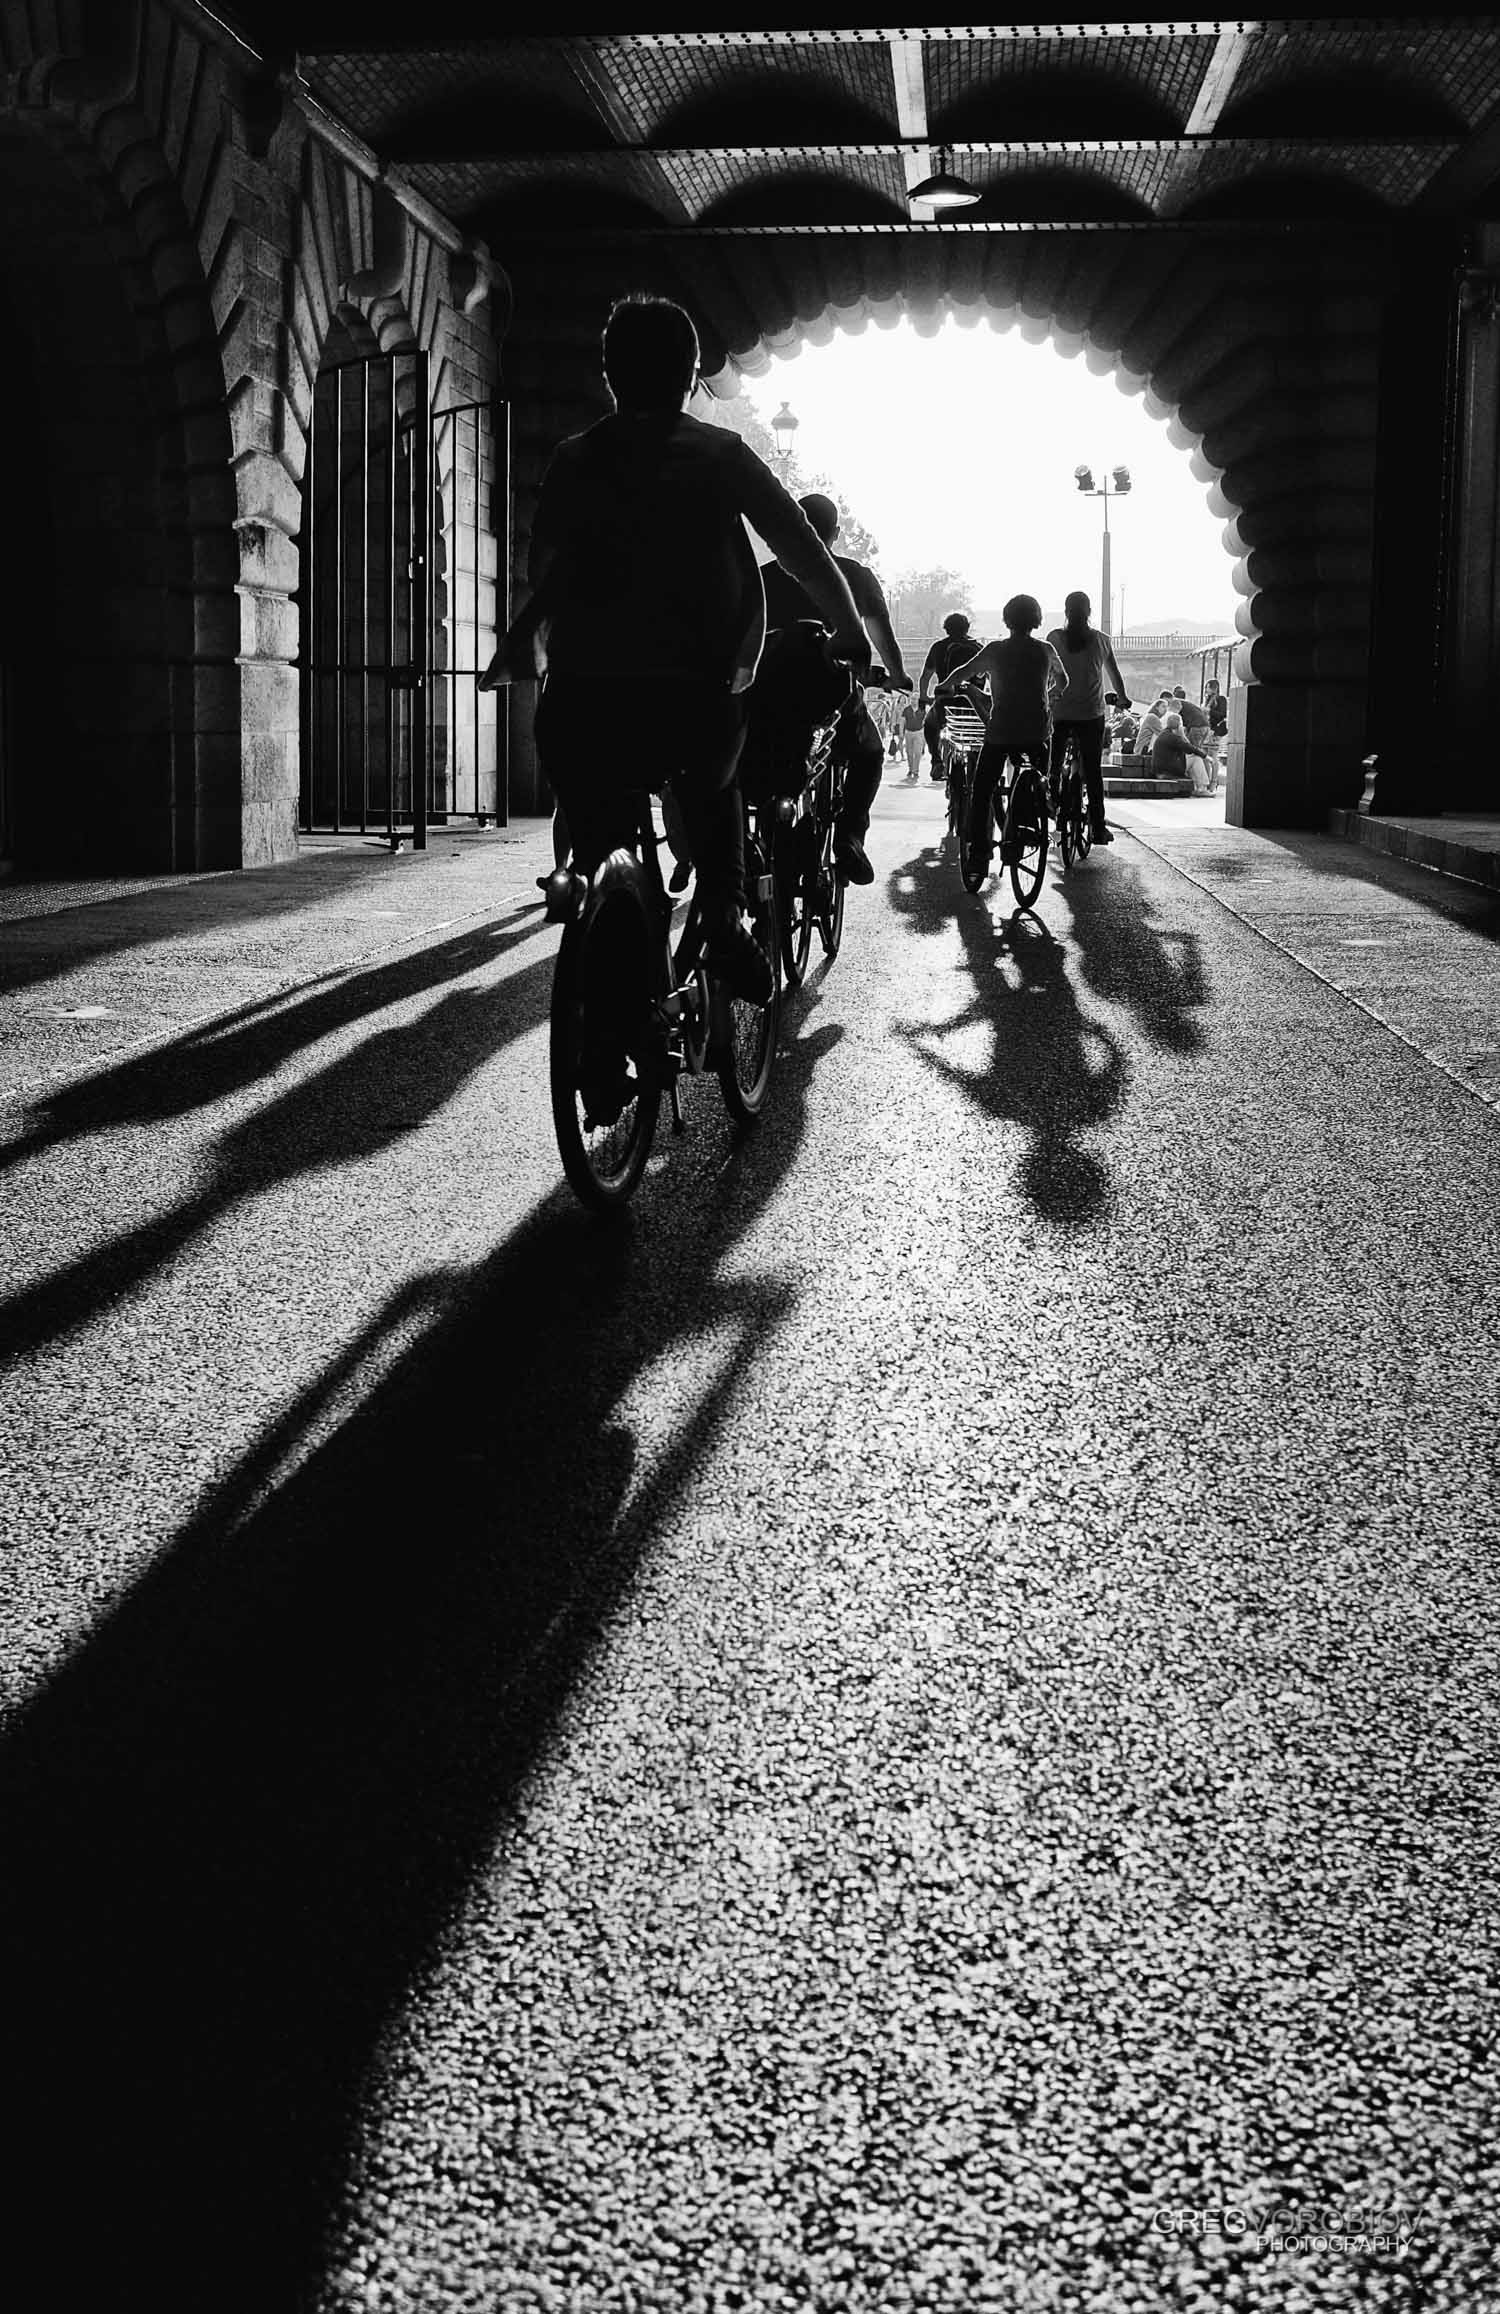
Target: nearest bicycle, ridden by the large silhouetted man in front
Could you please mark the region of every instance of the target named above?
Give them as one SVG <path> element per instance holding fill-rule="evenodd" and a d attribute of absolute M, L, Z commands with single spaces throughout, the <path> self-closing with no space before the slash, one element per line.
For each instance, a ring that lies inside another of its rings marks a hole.
<path fill-rule="evenodd" d="M 688 1129 L 683 1076 L 713 1071 L 734 1122 L 755 1122 L 771 1088 L 780 1020 L 775 889 L 755 803 L 745 801 L 745 893 L 771 965 L 766 1004 L 736 997 L 708 970 L 697 891 L 674 946 L 674 900 L 657 856 L 667 838 L 657 835 L 644 789 L 634 803 L 632 842 L 611 852 L 588 882 L 574 877 L 551 990 L 553 1129 L 562 1173 L 595 1213 L 613 1213 L 634 1196 L 664 1092 L 674 1134 Z"/>

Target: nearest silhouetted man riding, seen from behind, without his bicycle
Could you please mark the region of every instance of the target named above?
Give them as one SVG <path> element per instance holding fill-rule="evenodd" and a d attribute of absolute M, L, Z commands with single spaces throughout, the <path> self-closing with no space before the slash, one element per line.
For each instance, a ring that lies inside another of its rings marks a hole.
<path fill-rule="evenodd" d="M 690 315 L 623 299 L 604 324 L 613 417 L 558 444 L 532 521 L 532 599 L 481 676 L 546 669 L 537 754 L 586 875 L 634 840 L 632 791 L 676 794 L 704 902 L 708 960 L 764 1004 L 773 972 L 745 907 L 736 766 L 766 604 L 755 525 L 801 578 L 836 650 L 870 664 L 843 572 L 775 474 L 722 426 L 688 417 L 699 375 Z"/>

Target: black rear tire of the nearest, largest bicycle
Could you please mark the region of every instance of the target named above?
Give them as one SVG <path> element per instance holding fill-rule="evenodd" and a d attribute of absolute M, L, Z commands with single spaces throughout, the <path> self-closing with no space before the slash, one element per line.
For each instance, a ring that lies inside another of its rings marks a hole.
<path fill-rule="evenodd" d="M 630 877 L 625 870 L 634 870 Z M 551 986 L 549 1083 L 562 1173 L 574 1196 L 595 1213 L 618 1213 L 634 1196 L 662 1106 L 662 1076 L 641 1034 L 625 1046 L 634 1095 L 609 1122 L 593 1122 L 579 1078 L 588 1044 L 590 1007 L 609 990 L 616 1016 L 620 990 L 639 993 L 641 1023 L 650 1004 L 653 912 L 641 889 L 639 861 L 613 858 L 590 891 L 583 914 L 565 926 Z"/>

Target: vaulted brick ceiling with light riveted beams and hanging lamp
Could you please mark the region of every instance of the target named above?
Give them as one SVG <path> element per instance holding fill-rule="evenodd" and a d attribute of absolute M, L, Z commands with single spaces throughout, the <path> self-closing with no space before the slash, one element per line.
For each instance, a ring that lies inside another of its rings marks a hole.
<path fill-rule="evenodd" d="M 1493 16 L 495 35 L 493 5 L 426 0 L 396 39 L 363 0 L 227 14 L 495 250 L 1433 220 L 1500 180 Z M 984 194 L 942 222 L 907 208 L 938 146 Z"/>

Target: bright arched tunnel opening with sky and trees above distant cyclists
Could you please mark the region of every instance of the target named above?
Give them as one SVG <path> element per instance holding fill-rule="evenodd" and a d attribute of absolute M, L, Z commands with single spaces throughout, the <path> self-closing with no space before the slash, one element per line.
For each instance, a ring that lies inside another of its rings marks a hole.
<path fill-rule="evenodd" d="M 935 616 L 917 606 L 921 581 L 949 572 L 986 634 L 1014 592 L 1056 622 L 1086 590 L 1116 648 L 1134 629 L 1137 694 L 1197 685 L 1192 653 L 1208 641 L 1250 669 L 1236 509 L 1146 377 L 1083 333 L 998 305 L 880 322 L 815 324 L 803 349 L 741 361 L 738 396 L 701 393 L 694 410 L 745 433 L 789 488 L 843 500 L 861 541 L 845 551 L 875 562 L 917 664 L 931 641 L 917 627 Z M 796 430 L 773 437 L 787 410 Z"/>

